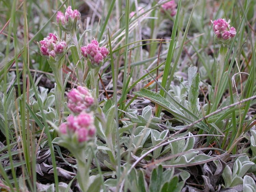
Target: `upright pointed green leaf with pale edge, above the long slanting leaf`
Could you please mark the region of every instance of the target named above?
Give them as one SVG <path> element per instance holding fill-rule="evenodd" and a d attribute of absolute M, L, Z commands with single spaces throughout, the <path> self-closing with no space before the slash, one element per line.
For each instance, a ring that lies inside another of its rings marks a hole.
<path fill-rule="evenodd" d="M 197 73 L 193 78 L 191 87 L 188 92 L 188 104 L 192 109 L 192 112 L 196 114 L 197 112 L 197 100 L 199 95 L 199 84 L 200 84 L 200 74 Z"/>

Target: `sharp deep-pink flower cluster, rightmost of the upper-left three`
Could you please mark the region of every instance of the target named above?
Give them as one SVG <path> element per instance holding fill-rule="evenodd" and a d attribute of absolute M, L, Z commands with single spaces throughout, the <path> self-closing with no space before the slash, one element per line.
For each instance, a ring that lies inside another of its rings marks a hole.
<path fill-rule="evenodd" d="M 109 50 L 106 47 L 100 47 L 98 41 L 92 40 L 87 46 L 81 47 L 81 53 L 93 66 L 101 66 Z"/>

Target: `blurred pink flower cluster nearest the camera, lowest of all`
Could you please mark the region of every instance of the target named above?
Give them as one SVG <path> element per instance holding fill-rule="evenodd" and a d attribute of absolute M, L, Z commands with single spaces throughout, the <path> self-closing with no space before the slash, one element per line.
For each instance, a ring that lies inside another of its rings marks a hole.
<path fill-rule="evenodd" d="M 59 132 L 70 137 L 75 135 L 79 143 L 88 141 L 96 132 L 93 114 L 82 112 L 76 117 L 70 115 L 67 123 L 60 124 Z"/>

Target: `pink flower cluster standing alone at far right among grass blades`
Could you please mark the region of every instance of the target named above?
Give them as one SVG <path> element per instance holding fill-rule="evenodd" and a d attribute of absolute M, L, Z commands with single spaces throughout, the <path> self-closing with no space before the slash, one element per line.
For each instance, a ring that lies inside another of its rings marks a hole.
<path fill-rule="evenodd" d="M 236 29 L 230 27 L 230 20 L 217 19 L 212 21 L 214 34 L 218 39 L 228 40 L 236 35 Z"/>

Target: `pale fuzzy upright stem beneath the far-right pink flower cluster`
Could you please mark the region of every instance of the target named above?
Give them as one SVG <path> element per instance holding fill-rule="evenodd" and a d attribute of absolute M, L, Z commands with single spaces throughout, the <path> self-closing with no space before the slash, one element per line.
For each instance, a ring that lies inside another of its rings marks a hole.
<path fill-rule="evenodd" d="M 227 46 L 221 45 L 221 47 L 219 48 L 219 59 L 218 59 L 218 64 L 217 64 L 217 77 L 216 77 L 215 90 L 214 90 L 215 96 L 217 94 L 219 81 L 221 80 L 221 75 L 224 70 L 224 64 L 225 64 L 225 60 L 226 60 L 227 51 L 228 51 Z"/>

